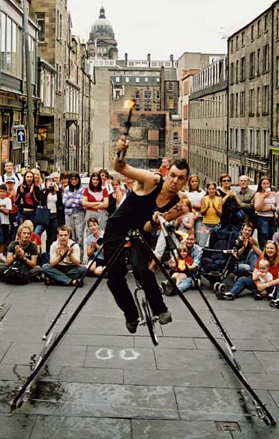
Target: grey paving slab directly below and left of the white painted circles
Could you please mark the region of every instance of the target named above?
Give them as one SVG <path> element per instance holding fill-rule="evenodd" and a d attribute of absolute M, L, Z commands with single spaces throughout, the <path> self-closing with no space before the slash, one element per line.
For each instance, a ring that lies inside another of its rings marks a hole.
<path fill-rule="evenodd" d="M 60 381 L 75 383 L 113 383 L 123 384 L 123 370 L 111 368 L 78 368 L 64 367 L 61 370 Z"/>

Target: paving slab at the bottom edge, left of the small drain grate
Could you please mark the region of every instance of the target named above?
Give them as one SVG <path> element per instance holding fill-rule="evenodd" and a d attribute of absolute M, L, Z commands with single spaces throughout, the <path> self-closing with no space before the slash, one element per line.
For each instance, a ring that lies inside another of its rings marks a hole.
<path fill-rule="evenodd" d="M 133 439 L 232 439 L 230 431 L 217 431 L 213 422 L 184 420 L 132 420 Z"/>

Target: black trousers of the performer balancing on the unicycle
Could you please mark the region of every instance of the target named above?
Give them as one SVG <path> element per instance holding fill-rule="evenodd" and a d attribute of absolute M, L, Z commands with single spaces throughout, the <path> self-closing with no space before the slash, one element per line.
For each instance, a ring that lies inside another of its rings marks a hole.
<path fill-rule="evenodd" d="M 123 236 L 119 237 L 118 235 L 116 237 L 109 235 L 108 232 L 105 233 L 105 263 L 108 263 L 108 260 L 112 254 L 115 252 L 115 250 L 117 250 L 117 248 L 119 248 L 123 238 Z M 149 254 L 147 250 L 143 244 L 138 241 L 133 243 L 132 247 L 129 249 L 134 276 L 143 287 L 153 313 L 158 316 L 160 313 L 166 312 L 167 307 L 162 300 L 162 295 L 160 293 L 158 283 L 156 282 L 156 277 L 148 268 Z M 125 263 L 125 250 L 123 248 L 121 254 L 119 254 L 119 257 L 108 272 L 108 287 L 112 292 L 117 305 L 124 312 L 125 319 L 128 322 L 133 322 L 138 318 L 138 309 L 136 308 L 134 297 L 125 278 L 127 271 L 128 270 Z"/>

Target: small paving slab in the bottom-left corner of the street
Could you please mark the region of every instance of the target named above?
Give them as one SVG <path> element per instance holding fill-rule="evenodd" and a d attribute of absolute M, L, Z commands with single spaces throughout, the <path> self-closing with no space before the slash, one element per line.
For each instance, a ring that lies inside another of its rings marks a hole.
<path fill-rule="evenodd" d="M 0 438 L 29 439 L 35 419 L 25 414 L 0 414 Z"/>

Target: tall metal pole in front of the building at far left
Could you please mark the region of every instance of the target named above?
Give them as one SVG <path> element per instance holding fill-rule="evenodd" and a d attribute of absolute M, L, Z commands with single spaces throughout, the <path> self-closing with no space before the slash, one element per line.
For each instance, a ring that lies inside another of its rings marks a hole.
<path fill-rule="evenodd" d="M 36 148 L 34 139 L 34 114 L 32 100 L 32 81 L 31 81 L 31 62 L 29 52 L 29 33 L 28 33 L 28 11 L 27 0 L 23 0 L 23 34 L 25 48 L 25 72 L 26 72 L 26 91 L 27 91 L 27 115 L 28 115 L 28 145 L 30 167 L 36 167 Z"/>

